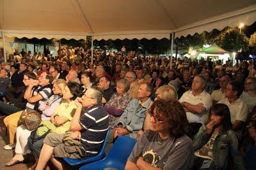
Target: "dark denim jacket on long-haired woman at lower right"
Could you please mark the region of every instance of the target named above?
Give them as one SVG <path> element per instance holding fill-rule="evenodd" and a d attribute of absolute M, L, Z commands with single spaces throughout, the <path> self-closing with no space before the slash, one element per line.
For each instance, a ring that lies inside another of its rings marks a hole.
<path fill-rule="evenodd" d="M 193 146 L 195 150 L 198 150 L 205 145 L 211 138 L 212 134 L 207 134 L 205 125 L 202 125 L 198 133 L 193 139 Z M 223 169 L 228 160 L 228 153 L 230 153 L 234 162 L 235 169 L 245 169 L 243 157 L 241 157 L 238 151 L 238 141 L 234 131 L 228 130 L 227 132 L 219 132 L 218 136 L 214 140 L 212 146 L 213 162 L 216 169 Z"/>

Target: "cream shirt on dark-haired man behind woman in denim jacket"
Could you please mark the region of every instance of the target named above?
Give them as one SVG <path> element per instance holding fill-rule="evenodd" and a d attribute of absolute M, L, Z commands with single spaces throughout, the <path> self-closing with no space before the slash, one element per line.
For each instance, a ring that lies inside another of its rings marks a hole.
<path fill-rule="evenodd" d="M 228 98 L 222 99 L 218 103 L 223 103 L 228 106 L 232 124 L 234 124 L 236 120 L 246 122 L 249 113 L 248 107 L 240 98 L 233 103 L 229 103 Z"/>

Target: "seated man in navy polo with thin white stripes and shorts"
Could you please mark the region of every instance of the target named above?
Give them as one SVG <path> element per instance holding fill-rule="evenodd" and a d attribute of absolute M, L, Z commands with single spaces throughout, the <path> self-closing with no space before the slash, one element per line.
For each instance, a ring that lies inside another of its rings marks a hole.
<path fill-rule="evenodd" d="M 108 112 L 102 106 L 101 100 L 102 92 L 97 87 L 86 90 L 81 99 L 76 99 L 77 110 L 70 124 L 70 137 L 77 142 L 81 141 L 81 144 L 79 147 L 67 146 L 63 141 L 65 134 L 48 134 L 44 139 L 36 169 L 44 169 L 48 160 L 58 169 L 63 169 L 61 162 L 55 157 L 81 159 L 97 155 L 109 126 Z M 82 106 L 88 109 L 81 116 Z"/>

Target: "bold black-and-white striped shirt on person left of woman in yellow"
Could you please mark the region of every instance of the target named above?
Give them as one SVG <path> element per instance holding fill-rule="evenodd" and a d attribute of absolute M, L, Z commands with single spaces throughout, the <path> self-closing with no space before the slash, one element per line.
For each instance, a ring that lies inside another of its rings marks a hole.
<path fill-rule="evenodd" d="M 32 96 L 36 96 L 37 94 L 40 94 L 40 96 L 42 96 L 42 99 L 40 101 L 46 101 L 52 95 L 52 84 L 45 85 L 44 87 L 40 87 L 40 86 L 34 87 Z M 28 102 L 26 104 L 26 110 L 38 111 L 38 103 L 39 101 L 35 103 Z"/>

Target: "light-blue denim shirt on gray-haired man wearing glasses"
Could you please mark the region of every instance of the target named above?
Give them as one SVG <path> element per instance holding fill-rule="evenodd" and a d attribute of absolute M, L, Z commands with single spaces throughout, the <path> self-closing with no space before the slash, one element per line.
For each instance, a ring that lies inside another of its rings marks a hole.
<path fill-rule="evenodd" d="M 138 131 L 143 127 L 143 122 L 151 102 L 150 98 L 148 98 L 148 100 L 142 104 L 142 107 L 137 109 L 139 108 L 140 100 L 131 100 L 120 117 L 120 121 L 116 122 L 116 125 L 121 123 L 123 127 L 130 132 L 129 136 L 136 138 Z"/>

